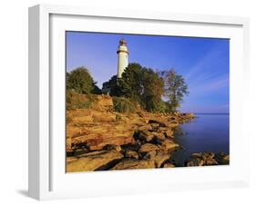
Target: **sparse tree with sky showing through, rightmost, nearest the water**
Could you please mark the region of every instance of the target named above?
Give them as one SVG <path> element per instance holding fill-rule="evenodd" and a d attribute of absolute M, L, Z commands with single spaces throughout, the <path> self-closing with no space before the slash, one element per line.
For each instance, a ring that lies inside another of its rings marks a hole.
<path fill-rule="evenodd" d="M 188 85 L 182 75 L 177 74 L 173 69 L 160 72 L 165 83 L 165 96 L 168 98 L 167 106 L 169 112 L 176 112 L 184 95 L 188 95 Z"/>

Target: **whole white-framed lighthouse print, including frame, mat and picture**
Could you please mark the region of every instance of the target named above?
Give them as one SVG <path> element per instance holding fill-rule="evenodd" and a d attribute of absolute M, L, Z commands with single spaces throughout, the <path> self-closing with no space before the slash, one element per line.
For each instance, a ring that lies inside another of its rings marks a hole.
<path fill-rule="evenodd" d="M 248 184 L 248 19 L 29 8 L 29 196 Z"/>

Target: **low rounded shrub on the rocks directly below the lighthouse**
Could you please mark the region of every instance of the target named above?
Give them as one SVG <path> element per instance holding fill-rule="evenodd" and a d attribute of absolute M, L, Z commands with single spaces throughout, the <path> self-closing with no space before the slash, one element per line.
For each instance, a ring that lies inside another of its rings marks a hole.
<path fill-rule="evenodd" d="M 138 105 L 124 97 L 113 97 L 115 112 L 136 112 Z"/>

